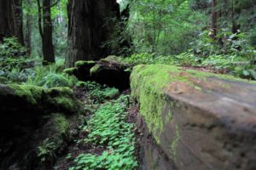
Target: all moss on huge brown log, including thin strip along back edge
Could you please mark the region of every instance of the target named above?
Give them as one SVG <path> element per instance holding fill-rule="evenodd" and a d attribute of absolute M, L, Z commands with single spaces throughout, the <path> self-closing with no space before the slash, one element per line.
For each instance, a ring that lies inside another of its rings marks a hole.
<path fill-rule="evenodd" d="M 171 82 L 182 82 L 185 86 L 201 91 L 195 80 L 207 81 L 210 77 L 218 79 L 247 82 L 235 77 L 217 75 L 201 71 L 183 71 L 172 65 L 137 65 L 131 73 L 131 94 L 140 103 L 140 112 L 148 124 L 150 133 L 159 143 L 166 117 L 163 111 L 166 108 L 167 96 L 165 90 Z M 254 83 L 254 82 L 253 82 Z M 172 121 L 172 113 L 168 113 L 167 120 Z"/>

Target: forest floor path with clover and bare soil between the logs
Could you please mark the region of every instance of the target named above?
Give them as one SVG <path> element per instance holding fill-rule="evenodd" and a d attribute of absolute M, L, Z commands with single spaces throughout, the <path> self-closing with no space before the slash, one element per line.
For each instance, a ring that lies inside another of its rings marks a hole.
<path fill-rule="evenodd" d="M 90 86 L 90 82 L 88 82 Z M 87 84 L 87 85 L 88 85 Z M 57 160 L 55 169 L 135 169 L 138 144 L 134 106 L 130 91 L 115 88 L 74 88 L 82 101 L 84 124 L 69 144 L 67 155 Z"/>

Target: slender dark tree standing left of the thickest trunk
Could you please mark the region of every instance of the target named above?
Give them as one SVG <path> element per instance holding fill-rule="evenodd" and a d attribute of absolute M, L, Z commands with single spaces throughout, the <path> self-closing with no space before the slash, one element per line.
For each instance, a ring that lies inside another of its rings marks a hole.
<path fill-rule="evenodd" d="M 42 39 L 42 51 L 44 56 L 44 64 L 55 62 L 55 53 L 54 46 L 52 42 L 52 23 L 51 23 L 51 11 L 52 8 L 57 2 L 51 3 L 51 0 L 44 0 L 43 6 L 38 2 L 38 28 L 39 33 Z M 43 13 L 42 13 L 43 11 Z M 43 14 L 43 23 L 42 23 L 42 14 Z M 43 26 L 42 26 L 43 25 Z"/>

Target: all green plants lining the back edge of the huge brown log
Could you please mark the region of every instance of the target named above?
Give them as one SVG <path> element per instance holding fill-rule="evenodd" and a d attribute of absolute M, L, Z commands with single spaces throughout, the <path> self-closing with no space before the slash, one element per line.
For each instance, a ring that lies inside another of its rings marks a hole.
<path fill-rule="evenodd" d="M 211 31 L 203 31 L 192 43 L 192 49 L 185 53 L 173 56 L 133 54 L 125 60 L 133 65 L 167 64 L 206 67 L 236 77 L 255 80 L 256 52 L 245 38 L 246 35 L 241 32 L 233 34 L 230 31 L 219 31 L 217 37 L 212 38 Z"/>

